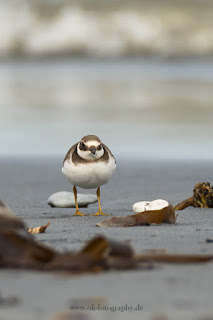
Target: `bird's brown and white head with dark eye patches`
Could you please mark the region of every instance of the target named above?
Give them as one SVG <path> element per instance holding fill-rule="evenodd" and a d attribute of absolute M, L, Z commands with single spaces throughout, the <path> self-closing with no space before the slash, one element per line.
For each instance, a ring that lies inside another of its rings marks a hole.
<path fill-rule="evenodd" d="M 77 145 L 79 157 L 86 161 L 98 160 L 104 154 L 101 140 L 95 135 L 83 137 Z"/>

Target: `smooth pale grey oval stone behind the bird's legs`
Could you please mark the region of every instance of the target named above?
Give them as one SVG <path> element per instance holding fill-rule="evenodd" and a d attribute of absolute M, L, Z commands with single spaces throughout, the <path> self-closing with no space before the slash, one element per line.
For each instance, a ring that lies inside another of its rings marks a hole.
<path fill-rule="evenodd" d="M 88 204 L 98 201 L 97 196 L 94 194 L 78 193 L 77 199 L 79 207 L 87 207 Z M 75 208 L 74 193 L 68 191 L 56 192 L 49 197 L 48 204 L 51 207 Z"/>

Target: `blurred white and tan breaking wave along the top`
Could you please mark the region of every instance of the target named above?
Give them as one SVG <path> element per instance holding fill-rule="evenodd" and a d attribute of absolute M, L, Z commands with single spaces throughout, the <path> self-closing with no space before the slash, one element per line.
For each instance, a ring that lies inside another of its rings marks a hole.
<path fill-rule="evenodd" d="M 212 1 L 0 1 L 0 58 L 211 57 Z"/>

